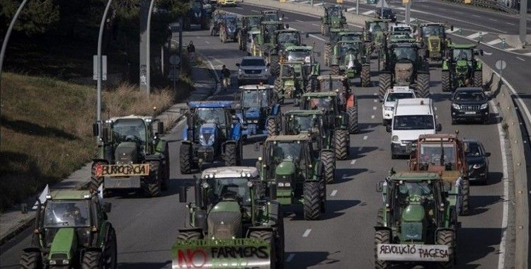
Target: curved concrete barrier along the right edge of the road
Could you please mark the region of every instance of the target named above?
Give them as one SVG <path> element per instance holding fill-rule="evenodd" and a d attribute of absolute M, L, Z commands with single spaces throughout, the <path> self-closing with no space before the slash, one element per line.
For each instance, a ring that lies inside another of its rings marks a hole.
<path fill-rule="evenodd" d="M 507 229 L 514 229 L 514 268 L 528 268 L 527 248 L 529 246 L 530 227 L 526 164 L 527 153 L 523 140 L 523 131 L 526 130 L 525 122 L 518 116 L 519 108 L 518 105 L 515 105 L 515 98 L 517 96 L 501 81 L 500 76 L 486 64 L 483 64 L 483 79 L 484 85 L 490 89 L 493 101 L 498 106 L 499 113 L 502 117 L 502 127 L 506 131 L 506 141 L 510 144 L 510 154 L 513 159 L 512 164 L 508 164 L 508 169 L 512 169 L 513 172 L 512 181 L 514 182 L 514 190 L 509 190 L 513 192 L 509 194 L 509 197 L 513 197 L 515 219 L 514 227 L 508 226 Z M 511 178 L 507 178 L 506 180 L 511 181 Z M 509 198 L 506 197 L 504 199 L 508 200 Z M 507 252 L 507 247 L 501 251 Z"/>

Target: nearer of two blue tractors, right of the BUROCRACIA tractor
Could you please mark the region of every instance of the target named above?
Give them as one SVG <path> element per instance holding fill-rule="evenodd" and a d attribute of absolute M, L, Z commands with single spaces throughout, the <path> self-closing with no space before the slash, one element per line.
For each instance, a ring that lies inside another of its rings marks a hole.
<path fill-rule="evenodd" d="M 203 163 L 224 161 L 239 166 L 242 160 L 241 123 L 233 101 L 189 102 L 185 108 L 179 159 L 181 173 L 200 169 Z"/>

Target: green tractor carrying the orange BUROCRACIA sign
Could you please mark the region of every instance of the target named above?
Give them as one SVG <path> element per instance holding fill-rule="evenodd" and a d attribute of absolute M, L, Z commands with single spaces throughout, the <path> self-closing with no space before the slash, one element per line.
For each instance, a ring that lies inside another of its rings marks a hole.
<path fill-rule="evenodd" d="M 97 136 L 98 125 L 93 125 Z M 117 117 L 105 120 L 101 144 L 91 168 L 91 185 L 112 189 L 136 188 L 149 197 L 166 190 L 170 181 L 170 155 L 161 139 L 164 125 L 149 116 Z"/>

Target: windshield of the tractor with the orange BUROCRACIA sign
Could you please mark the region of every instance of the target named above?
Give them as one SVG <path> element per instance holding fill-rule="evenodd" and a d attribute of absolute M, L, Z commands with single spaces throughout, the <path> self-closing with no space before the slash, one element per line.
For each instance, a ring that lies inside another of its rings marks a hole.
<path fill-rule="evenodd" d="M 146 125 L 142 119 L 120 119 L 113 124 L 113 141 L 146 142 Z"/>

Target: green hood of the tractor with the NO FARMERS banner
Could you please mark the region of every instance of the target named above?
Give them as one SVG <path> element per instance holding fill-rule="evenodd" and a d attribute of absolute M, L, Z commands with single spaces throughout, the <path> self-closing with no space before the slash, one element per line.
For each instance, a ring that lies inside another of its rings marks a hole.
<path fill-rule="evenodd" d="M 241 238 L 241 211 L 236 200 L 218 202 L 208 214 L 210 239 Z"/>

